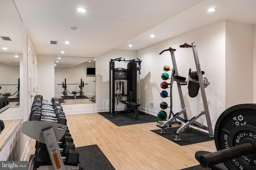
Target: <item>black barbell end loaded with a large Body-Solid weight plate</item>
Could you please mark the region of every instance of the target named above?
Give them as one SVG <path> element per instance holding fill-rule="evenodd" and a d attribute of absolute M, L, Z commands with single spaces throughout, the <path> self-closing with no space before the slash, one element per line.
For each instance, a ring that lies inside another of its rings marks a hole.
<path fill-rule="evenodd" d="M 203 167 L 223 162 L 228 170 L 255 170 L 256 104 L 226 109 L 216 121 L 214 141 L 216 152 L 200 156 L 196 152 L 196 159 Z"/>

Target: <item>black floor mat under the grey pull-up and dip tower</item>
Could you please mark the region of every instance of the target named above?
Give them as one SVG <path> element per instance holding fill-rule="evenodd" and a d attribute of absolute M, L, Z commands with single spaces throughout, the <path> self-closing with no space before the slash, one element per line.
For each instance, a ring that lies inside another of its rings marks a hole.
<path fill-rule="evenodd" d="M 185 129 L 185 131 L 181 132 L 179 135 L 180 139 L 182 139 L 182 140 L 174 141 L 173 139 L 175 139 L 175 135 L 172 133 L 172 131 L 178 130 L 179 128 L 180 127 L 166 128 L 166 129 L 164 129 L 166 134 L 159 134 L 158 132 L 161 131 L 160 129 L 152 130 L 152 132 L 154 132 L 162 137 L 165 137 L 166 139 L 169 139 L 170 141 L 173 141 L 180 146 L 214 140 L 213 137 L 209 137 L 208 133 L 204 133 L 204 132 L 198 131 L 196 129 Z"/>

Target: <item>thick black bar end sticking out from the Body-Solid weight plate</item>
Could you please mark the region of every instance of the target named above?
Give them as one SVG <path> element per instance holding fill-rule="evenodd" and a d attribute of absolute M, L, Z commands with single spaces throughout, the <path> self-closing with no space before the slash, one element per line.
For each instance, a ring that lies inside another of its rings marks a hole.
<path fill-rule="evenodd" d="M 204 154 L 199 156 L 198 161 L 204 168 L 206 168 L 254 152 L 255 147 L 252 143 L 244 143 L 228 149 Z"/>

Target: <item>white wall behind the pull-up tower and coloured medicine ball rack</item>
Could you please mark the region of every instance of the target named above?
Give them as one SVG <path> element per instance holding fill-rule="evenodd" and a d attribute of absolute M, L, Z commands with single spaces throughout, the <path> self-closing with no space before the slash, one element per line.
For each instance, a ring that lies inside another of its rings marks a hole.
<path fill-rule="evenodd" d="M 138 58 L 143 61 L 140 81 L 141 107 L 149 113 L 157 115 L 158 111 L 161 110 L 161 102 L 170 104 L 170 98 L 160 97 L 163 67 L 169 65 L 172 68 L 170 52 L 159 55 L 162 50 L 169 47 L 176 49 L 174 54 L 180 76 L 188 78 L 190 68 L 192 71 L 196 71 L 192 49 L 179 47 L 185 42 L 189 44 L 196 42 L 201 70 L 205 72 L 203 76 L 208 78 L 210 82 L 210 86 L 205 91 L 212 126 L 214 127 L 216 119 L 225 109 L 225 21 L 214 23 L 138 51 Z M 171 74 L 171 71 L 168 73 Z M 181 110 L 176 87 L 174 83 L 172 92 L 174 113 Z M 170 95 L 169 89 L 167 91 Z M 189 118 L 204 110 L 200 92 L 196 98 L 188 96 L 187 86 L 182 86 L 182 92 Z M 154 108 L 149 107 L 149 102 L 154 102 Z M 169 113 L 169 110 L 167 109 L 166 112 Z M 207 125 L 205 116 L 202 116 L 198 121 Z"/>

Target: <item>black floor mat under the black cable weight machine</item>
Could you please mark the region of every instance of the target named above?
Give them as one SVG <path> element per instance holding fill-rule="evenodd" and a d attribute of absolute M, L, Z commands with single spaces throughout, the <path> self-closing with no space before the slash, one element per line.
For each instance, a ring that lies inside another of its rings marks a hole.
<path fill-rule="evenodd" d="M 158 117 L 145 114 L 145 113 L 139 113 L 140 119 L 138 120 L 135 119 L 136 117 L 135 113 L 118 113 L 118 114 L 114 114 L 114 118 L 109 118 L 109 112 L 99 112 L 99 114 L 117 126 L 149 123 L 149 122 L 156 122 L 159 120 Z"/>

